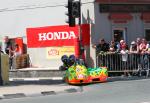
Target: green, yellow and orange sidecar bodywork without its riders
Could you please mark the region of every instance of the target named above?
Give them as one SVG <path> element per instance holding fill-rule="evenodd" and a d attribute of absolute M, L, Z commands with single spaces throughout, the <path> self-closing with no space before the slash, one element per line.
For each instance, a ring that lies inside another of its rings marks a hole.
<path fill-rule="evenodd" d="M 84 65 L 73 65 L 66 70 L 65 74 L 65 81 L 69 84 L 106 82 L 107 78 L 106 67 L 86 68 Z"/>

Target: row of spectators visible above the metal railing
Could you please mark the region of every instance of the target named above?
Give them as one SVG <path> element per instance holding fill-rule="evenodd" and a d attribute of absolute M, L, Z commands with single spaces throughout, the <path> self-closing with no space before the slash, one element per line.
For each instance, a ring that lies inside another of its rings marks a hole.
<path fill-rule="evenodd" d="M 110 43 L 107 43 L 105 39 L 100 39 L 97 45 L 93 46 L 97 53 L 100 52 L 117 52 L 121 53 L 126 51 L 128 53 L 148 53 L 150 54 L 150 44 L 145 38 L 137 38 L 132 41 L 128 46 L 125 40 L 116 41 L 113 39 Z"/>

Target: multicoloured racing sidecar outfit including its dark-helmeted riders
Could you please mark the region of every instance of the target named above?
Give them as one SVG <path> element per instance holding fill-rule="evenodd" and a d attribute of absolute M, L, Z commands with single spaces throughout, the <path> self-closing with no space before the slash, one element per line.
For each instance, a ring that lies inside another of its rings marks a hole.
<path fill-rule="evenodd" d="M 87 68 L 84 63 L 75 58 L 62 56 L 63 68 L 65 70 L 64 80 L 69 84 L 85 84 L 94 82 L 106 82 L 108 78 L 107 67 Z"/>

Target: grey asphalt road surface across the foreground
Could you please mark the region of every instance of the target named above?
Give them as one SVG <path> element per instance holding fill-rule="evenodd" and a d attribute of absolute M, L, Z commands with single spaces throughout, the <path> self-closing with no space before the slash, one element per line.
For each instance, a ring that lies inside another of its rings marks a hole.
<path fill-rule="evenodd" d="M 150 78 L 90 84 L 76 93 L 4 99 L 0 103 L 150 103 Z"/>

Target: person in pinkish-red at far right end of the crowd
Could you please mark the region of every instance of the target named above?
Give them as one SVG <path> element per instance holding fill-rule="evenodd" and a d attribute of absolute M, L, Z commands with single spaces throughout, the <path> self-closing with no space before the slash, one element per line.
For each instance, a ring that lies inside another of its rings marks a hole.
<path fill-rule="evenodd" d="M 146 53 L 148 51 L 148 47 L 149 47 L 149 44 L 147 43 L 146 39 L 142 39 L 142 42 L 140 44 L 140 52 L 143 54 L 143 53 Z"/>

